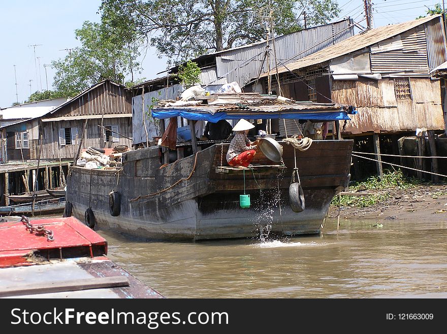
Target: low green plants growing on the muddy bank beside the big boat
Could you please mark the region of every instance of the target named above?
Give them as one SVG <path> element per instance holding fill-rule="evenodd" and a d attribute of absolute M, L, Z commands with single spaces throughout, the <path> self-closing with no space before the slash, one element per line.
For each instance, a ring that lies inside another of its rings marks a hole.
<path fill-rule="evenodd" d="M 390 198 L 390 193 L 384 190 L 390 189 L 409 189 L 421 184 L 422 182 L 415 178 L 405 178 L 402 171 L 386 172 L 384 179 L 380 181 L 377 176 L 371 176 L 364 181 L 354 182 L 349 185 L 350 191 L 356 190 L 375 190 L 376 194 L 367 196 L 341 196 L 340 205 L 342 207 L 350 206 L 357 208 L 370 207 L 372 205 L 383 203 Z M 380 192 L 384 191 L 384 192 Z M 335 196 L 331 202 L 332 206 L 338 206 L 338 196 Z"/>

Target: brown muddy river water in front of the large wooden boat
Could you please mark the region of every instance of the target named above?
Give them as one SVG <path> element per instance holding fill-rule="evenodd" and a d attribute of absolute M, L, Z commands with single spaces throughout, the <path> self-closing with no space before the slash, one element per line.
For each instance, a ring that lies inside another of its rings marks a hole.
<path fill-rule="evenodd" d="M 447 298 L 447 221 L 328 220 L 288 241 L 141 242 L 110 258 L 168 298 Z"/>

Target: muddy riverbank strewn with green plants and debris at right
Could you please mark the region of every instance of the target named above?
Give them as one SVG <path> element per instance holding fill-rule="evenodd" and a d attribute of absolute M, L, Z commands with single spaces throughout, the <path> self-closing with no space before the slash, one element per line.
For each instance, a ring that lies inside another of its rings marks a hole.
<path fill-rule="evenodd" d="M 339 196 L 332 199 L 328 218 L 338 216 Z M 405 177 L 401 170 L 354 181 L 340 195 L 340 219 L 447 218 L 447 182 L 434 184 Z"/>

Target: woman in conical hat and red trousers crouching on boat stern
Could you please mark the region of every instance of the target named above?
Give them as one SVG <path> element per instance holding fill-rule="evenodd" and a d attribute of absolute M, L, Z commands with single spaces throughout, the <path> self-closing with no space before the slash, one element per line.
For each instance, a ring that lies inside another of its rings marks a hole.
<path fill-rule="evenodd" d="M 227 152 L 227 162 L 230 166 L 247 168 L 251 160 L 253 160 L 258 141 L 250 142 L 247 137 L 248 130 L 253 127 L 254 125 L 245 119 L 241 119 L 233 127 L 236 135 L 231 141 Z"/>

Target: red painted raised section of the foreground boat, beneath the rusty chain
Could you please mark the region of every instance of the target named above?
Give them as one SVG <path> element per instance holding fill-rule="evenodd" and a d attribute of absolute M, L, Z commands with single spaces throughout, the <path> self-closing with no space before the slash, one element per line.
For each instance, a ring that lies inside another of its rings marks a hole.
<path fill-rule="evenodd" d="M 58 250 L 63 253 L 65 248 L 89 247 L 92 257 L 92 247 L 99 246 L 103 254 L 107 254 L 107 241 L 75 217 L 35 219 L 30 223 L 34 227 L 43 225 L 45 229 L 52 230 L 54 240 L 48 241 L 44 236 L 30 233 L 21 221 L 0 224 L 0 268 L 34 264 L 28 257 L 30 252 L 36 250 Z"/>

